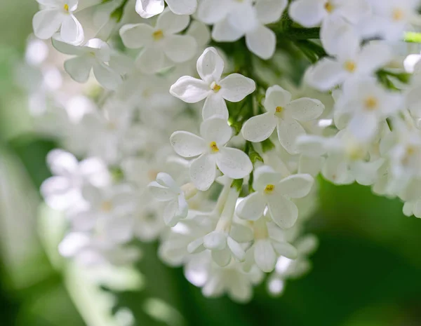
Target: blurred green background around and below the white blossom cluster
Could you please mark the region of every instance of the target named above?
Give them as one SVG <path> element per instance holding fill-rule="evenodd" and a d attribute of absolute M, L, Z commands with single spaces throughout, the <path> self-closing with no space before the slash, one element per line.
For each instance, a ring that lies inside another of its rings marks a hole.
<path fill-rule="evenodd" d="M 206 299 L 159 262 L 153 244 L 142 247 L 141 275 L 61 259 L 60 216 L 38 191 L 55 144 L 32 131 L 16 84 L 36 9 L 33 0 L 0 1 L 0 325 L 421 325 L 421 220 L 363 186 L 320 180 L 313 269 L 277 298 L 262 286 L 246 305 Z"/>

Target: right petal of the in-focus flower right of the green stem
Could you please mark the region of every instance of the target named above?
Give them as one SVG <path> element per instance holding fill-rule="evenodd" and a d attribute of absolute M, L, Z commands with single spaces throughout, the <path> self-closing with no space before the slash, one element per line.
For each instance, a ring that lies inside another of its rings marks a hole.
<path fill-rule="evenodd" d="M 293 100 L 286 106 L 288 114 L 298 121 L 311 121 L 319 118 L 323 113 L 323 109 L 324 105 L 322 102 L 308 97 Z"/>

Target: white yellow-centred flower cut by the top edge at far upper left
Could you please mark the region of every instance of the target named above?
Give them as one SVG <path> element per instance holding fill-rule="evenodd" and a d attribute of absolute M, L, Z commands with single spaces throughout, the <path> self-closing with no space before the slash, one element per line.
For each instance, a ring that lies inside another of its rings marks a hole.
<path fill-rule="evenodd" d="M 36 0 L 43 8 L 34 15 L 32 25 L 39 39 L 50 39 L 60 29 L 60 38 L 79 46 L 83 42 L 83 28 L 74 17 L 78 0 Z"/>

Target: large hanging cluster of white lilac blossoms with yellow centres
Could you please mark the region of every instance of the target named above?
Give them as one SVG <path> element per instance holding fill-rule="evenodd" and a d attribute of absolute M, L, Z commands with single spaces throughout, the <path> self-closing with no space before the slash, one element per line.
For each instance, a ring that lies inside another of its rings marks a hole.
<path fill-rule="evenodd" d="M 247 301 L 309 270 L 319 174 L 421 217 L 420 1 L 37 1 L 55 57 L 29 43 L 28 90 L 63 148 L 41 192 L 66 257 L 130 264 L 159 240 L 204 295 Z"/>

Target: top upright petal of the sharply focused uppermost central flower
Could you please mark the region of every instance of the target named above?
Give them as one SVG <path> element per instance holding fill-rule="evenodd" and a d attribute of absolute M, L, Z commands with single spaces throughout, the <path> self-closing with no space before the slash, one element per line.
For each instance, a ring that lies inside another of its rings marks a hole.
<path fill-rule="evenodd" d="M 197 60 L 197 72 L 203 81 L 219 81 L 224 70 L 224 60 L 215 48 L 206 48 Z"/>

